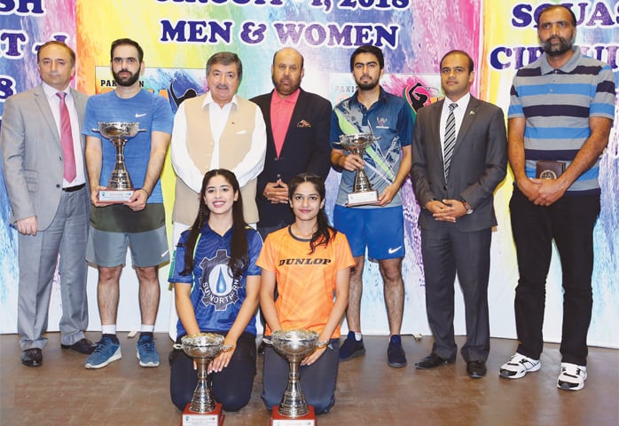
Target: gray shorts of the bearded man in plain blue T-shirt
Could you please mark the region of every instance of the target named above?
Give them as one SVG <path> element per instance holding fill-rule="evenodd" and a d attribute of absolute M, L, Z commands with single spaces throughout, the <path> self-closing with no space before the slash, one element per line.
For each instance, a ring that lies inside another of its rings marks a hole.
<path fill-rule="evenodd" d="M 90 226 L 86 261 L 104 268 L 114 268 L 125 264 L 128 247 L 131 248 L 131 262 L 139 268 L 169 261 L 165 226 L 144 233 L 110 233 Z"/>

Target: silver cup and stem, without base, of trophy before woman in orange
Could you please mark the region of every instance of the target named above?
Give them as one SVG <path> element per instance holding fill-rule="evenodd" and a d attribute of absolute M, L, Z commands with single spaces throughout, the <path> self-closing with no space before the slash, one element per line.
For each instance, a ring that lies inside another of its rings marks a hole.
<path fill-rule="evenodd" d="M 299 381 L 299 366 L 302 359 L 316 349 L 318 334 L 302 328 L 274 331 L 271 336 L 273 348 L 290 363 L 288 387 L 278 406 L 278 413 L 286 417 L 302 417 L 310 413 Z"/>

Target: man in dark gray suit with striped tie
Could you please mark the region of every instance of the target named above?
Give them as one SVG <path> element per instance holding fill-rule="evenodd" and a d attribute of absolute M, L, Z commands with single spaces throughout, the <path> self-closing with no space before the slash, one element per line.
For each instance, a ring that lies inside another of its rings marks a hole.
<path fill-rule="evenodd" d="M 470 93 L 473 59 L 450 51 L 441 60 L 445 99 L 419 109 L 412 141 L 412 185 L 419 214 L 426 276 L 427 320 L 435 338 L 419 369 L 453 363 L 454 280 L 462 288 L 472 378 L 486 374 L 490 351 L 488 280 L 491 228 L 497 225 L 493 191 L 504 179 L 507 138 L 503 112 Z"/>

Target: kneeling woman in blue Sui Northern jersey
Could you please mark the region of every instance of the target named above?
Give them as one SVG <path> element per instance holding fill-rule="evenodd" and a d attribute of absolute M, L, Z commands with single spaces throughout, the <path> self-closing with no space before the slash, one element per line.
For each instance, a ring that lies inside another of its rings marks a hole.
<path fill-rule="evenodd" d="M 210 170 L 200 191 L 200 210 L 176 248 L 173 271 L 178 325 L 184 335 L 218 333 L 231 350 L 209 365 L 215 401 L 226 411 L 249 402 L 255 376 L 255 310 L 262 248 L 260 235 L 243 220 L 239 182 L 229 170 Z M 181 349 L 170 354 L 170 394 L 180 410 L 198 382 L 193 360 Z"/>

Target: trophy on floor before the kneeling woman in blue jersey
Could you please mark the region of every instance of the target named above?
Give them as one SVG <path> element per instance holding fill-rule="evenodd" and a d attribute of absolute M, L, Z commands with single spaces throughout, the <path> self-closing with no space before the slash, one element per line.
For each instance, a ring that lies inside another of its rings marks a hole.
<path fill-rule="evenodd" d="M 200 333 L 185 335 L 181 339 L 183 351 L 198 364 L 198 385 L 193 390 L 192 402 L 183 412 L 182 426 L 219 426 L 223 424 L 222 405 L 215 403 L 207 382 L 207 366 L 223 346 L 223 335 Z"/>

